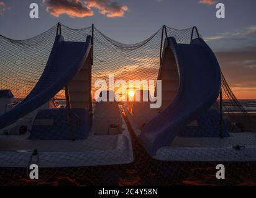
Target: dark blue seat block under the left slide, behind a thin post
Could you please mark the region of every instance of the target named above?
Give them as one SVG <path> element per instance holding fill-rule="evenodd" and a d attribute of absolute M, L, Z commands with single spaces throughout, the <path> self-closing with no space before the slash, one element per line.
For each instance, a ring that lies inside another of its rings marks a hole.
<path fill-rule="evenodd" d="M 87 139 L 91 130 L 91 115 L 85 108 L 73 108 L 72 130 L 76 140 Z M 39 110 L 34 119 L 30 140 L 71 140 L 68 108 Z"/>

